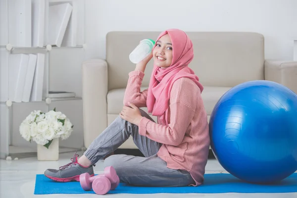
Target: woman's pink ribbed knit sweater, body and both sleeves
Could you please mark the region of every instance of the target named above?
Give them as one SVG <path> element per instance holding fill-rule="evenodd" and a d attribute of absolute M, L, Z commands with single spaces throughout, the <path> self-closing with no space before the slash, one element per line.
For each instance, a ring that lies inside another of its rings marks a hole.
<path fill-rule="evenodd" d="M 129 102 L 146 107 L 148 90 L 141 92 L 142 71 L 129 73 L 124 105 Z M 163 144 L 157 155 L 171 169 L 187 170 L 200 185 L 204 180 L 209 151 L 207 114 L 198 86 L 188 78 L 180 78 L 172 87 L 169 109 L 166 111 L 168 126 L 143 117 L 139 122 L 139 134 Z"/>

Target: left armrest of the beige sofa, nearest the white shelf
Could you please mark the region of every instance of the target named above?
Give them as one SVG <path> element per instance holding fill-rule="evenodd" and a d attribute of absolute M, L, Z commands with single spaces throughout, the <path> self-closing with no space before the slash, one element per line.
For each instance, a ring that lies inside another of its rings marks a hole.
<path fill-rule="evenodd" d="M 84 144 L 88 148 L 107 127 L 107 62 L 91 59 L 82 64 Z"/>

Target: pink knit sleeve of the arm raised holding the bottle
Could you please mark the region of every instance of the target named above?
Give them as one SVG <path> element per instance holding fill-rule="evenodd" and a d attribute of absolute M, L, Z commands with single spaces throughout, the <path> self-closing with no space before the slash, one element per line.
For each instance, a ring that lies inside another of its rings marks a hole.
<path fill-rule="evenodd" d="M 147 107 L 148 90 L 141 92 L 142 80 L 145 73 L 142 71 L 132 71 L 129 73 L 129 80 L 127 83 L 124 105 L 129 106 L 129 102 L 135 104 L 137 107 Z"/>

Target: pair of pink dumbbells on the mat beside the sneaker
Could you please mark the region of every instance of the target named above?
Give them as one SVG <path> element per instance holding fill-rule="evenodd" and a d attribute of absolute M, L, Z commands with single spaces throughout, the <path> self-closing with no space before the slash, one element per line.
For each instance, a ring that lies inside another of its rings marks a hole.
<path fill-rule="evenodd" d="M 93 191 L 98 195 L 105 195 L 109 190 L 114 190 L 120 183 L 120 179 L 112 166 L 104 168 L 104 174 L 91 177 L 89 173 L 79 177 L 81 187 L 85 191 Z"/>

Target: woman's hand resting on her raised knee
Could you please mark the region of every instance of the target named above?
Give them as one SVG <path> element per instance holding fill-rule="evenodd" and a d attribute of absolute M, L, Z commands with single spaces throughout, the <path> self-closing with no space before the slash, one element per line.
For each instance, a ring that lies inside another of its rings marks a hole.
<path fill-rule="evenodd" d="M 120 117 L 122 119 L 138 126 L 138 124 L 143 116 L 141 115 L 141 112 L 137 106 L 135 106 L 132 103 L 129 103 L 129 105 L 131 107 L 123 106 L 123 109 L 120 112 Z"/>

